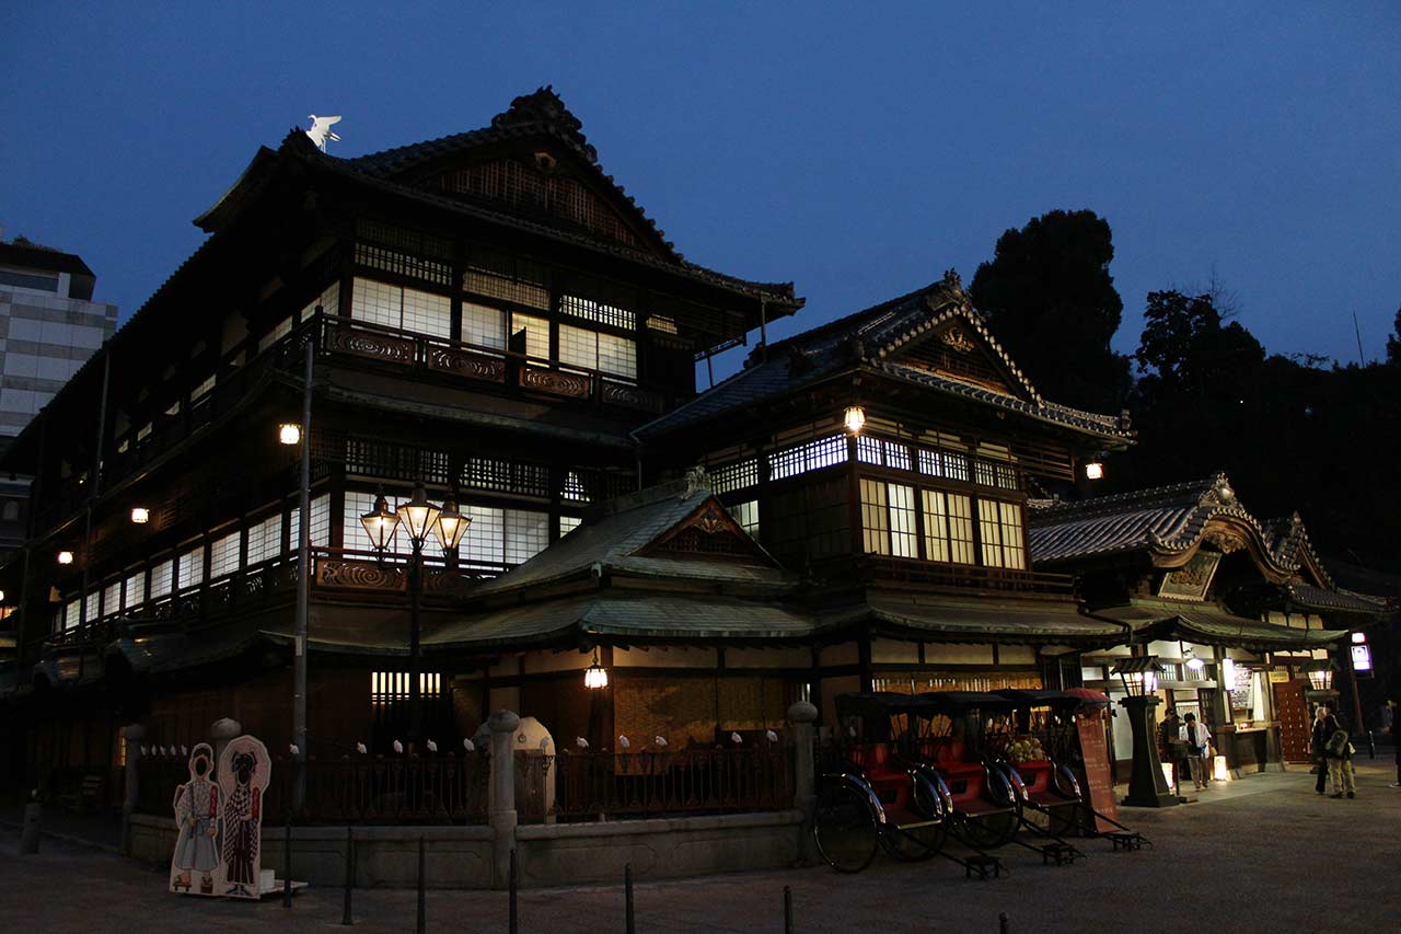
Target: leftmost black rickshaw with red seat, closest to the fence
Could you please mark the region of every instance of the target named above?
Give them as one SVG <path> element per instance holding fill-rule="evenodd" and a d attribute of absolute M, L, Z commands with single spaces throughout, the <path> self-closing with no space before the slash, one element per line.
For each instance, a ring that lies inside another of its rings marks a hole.
<path fill-rule="evenodd" d="M 943 847 L 951 795 L 909 754 L 922 708 L 909 694 L 836 697 L 839 760 L 821 776 L 813 836 L 838 872 L 860 872 L 877 848 L 920 861 Z"/>

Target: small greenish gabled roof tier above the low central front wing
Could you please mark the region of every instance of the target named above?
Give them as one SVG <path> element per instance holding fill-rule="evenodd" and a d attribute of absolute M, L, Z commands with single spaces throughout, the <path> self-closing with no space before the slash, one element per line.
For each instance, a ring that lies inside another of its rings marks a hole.
<path fill-rule="evenodd" d="M 793 578 L 772 560 L 724 555 L 637 554 L 712 499 L 708 484 L 682 480 L 621 496 L 601 506 L 574 532 L 518 568 L 489 581 L 474 596 L 534 588 L 586 572 L 740 583 L 787 589 Z M 743 534 L 743 532 L 740 533 Z M 762 555 L 758 543 L 757 554 Z"/>

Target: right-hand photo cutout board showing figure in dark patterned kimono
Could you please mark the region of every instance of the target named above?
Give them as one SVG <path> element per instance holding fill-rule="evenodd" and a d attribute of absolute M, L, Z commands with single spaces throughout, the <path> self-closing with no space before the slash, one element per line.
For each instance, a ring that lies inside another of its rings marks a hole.
<path fill-rule="evenodd" d="M 254 736 L 238 736 L 219 757 L 221 827 L 219 847 L 223 871 L 219 895 L 235 899 L 262 898 L 262 806 L 272 780 L 268 747 Z"/>

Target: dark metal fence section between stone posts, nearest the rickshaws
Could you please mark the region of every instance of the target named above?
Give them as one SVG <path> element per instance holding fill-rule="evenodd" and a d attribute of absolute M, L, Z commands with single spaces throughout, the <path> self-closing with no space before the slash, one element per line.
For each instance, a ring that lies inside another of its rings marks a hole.
<path fill-rule="evenodd" d="M 560 752 L 560 820 L 782 811 L 793 806 L 793 750 Z"/>

